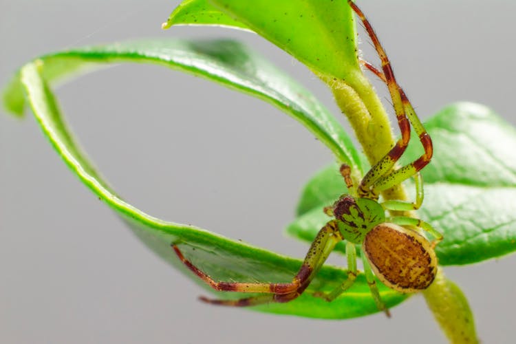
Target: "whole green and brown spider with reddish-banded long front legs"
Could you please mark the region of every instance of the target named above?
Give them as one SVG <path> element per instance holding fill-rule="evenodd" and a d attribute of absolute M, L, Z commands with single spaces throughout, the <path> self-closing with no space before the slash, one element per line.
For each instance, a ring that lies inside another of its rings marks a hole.
<path fill-rule="evenodd" d="M 394 78 L 391 64 L 383 47 L 378 41 L 372 26 L 363 12 L 351 0 L 352 10 L 361 19 L 367 34 L 380 57 L 382 71 L 372 64 L 361 60 L 369 71 L 383 80 L 389 89 L 401 138 L 394 147 L 366 173 L 358 188 L 355 188 L 350 177 L 351 169 L 343 164 L 340 173 L 343 176 L 349 194 L 341 195 L 332 206 L 324 211 L 334 217 L 317 234 L 308 253 L 290 283 L 246 283 L 215 281 L 205 272 L 187 260 L 178 246 L 172 244 L 173 250 L 182 263 L 215 290 L 228 292 L 261 293 L 259 296 L 237 300 L 200 299 L 206 303 L 230 306 L 252 306 L 264 303 L 292 301 L 308 287 L 325 260 L 339 241 L 346 241 L 347 279 L 329 293 L 316 292 L 314 296 L 333 301 L 349 289 L 358 270 L 356 268 L 356 246 L 361 246 L 363 268 L 372 297 L 379 310 L 390 316 L 385 303 L 380 299 L 374 275 L 386 286 L 399 292 L 417 292 L 427 288 L 436 277 L 437 258 L 433 251 L 435 245 L 442 240 L 442 235 L 427 222 L 407 216 L 386 217 L 386 211 L 412 211 L 418 209 L 423 201 L 422 178 L 419 171 L 426 166 L 432 157 L 431 138 L 425 131 L 411 106 L 407 96 Z M 424 154 L 420 158 L 394 169 L 394 165 L 405 152 L 410 140 L 410 125 L 419 136 Z M 378 202 L 378 195 L 402 181 L 413 177 L 416 182 L 416 202 L 400 200 Z M 415 230 L 403 226 L 422 228 L 436 238 L 433 243 Z"/>

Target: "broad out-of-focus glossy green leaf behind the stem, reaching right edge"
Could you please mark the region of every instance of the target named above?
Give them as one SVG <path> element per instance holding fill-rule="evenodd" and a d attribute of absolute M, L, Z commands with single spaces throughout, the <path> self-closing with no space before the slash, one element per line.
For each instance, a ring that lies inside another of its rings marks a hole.
<path fill-rule="evenodd" d="M 482 105 L 451 105 L 425 125 L 434 147 L 431 163 L 422 171 L 424 203 L 419 216 L 444 235 L 436 252 L 441 265 L 473 264 L 516 251 L 516 130 Z M 404 162 L 422 149 L 411 138 Z M 332 165 L 316 175 L 299 202 L 319 202 L 287 228 L 310 241 L 327 222 L 323 206 L 345 189 Z M 313 189 L 319 191 L 314 196 Z M 413 197 L 413 196 L 412 196 Z M 325 201 L 323 201 L 325 199 Z M 342 249 L 342 247 L 341 247 Z"/>

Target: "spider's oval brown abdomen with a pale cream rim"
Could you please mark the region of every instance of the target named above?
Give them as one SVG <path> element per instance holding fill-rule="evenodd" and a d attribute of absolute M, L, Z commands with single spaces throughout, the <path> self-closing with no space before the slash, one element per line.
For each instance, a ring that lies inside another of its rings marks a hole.
<path fill-rule="evenodd" d="M 363 242 L 375 275 L 400 292 L 426 289 L 437 273 L 437 257 L 427 239 L 396 224 L 375 226 Z"/>

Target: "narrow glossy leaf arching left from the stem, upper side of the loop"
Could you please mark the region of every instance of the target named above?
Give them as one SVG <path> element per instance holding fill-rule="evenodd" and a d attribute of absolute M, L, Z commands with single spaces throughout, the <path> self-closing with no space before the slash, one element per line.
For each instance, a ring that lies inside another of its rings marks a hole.
<path fill-rule="evenodd" d="M 336 155 L 360 166 L 360 158 L 338 121 L 306 89 L 264 58 L 235 41 L 149 40 L 84 47 L 41 57 L 43 77 L 50 83 L 72 72 L 87 72 L 107 63 L 155 63 L 180 69 L 265 100 L 299 120 Z M 21 114 L 23 94 L 18 78 L 6 89 L 6 106 Z"/>

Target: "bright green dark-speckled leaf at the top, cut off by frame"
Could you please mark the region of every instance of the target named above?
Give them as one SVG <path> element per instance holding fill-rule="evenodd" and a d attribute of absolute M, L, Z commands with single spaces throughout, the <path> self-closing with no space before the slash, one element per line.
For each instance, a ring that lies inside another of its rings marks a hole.
<path fill-rule="evenodd" d="M 316 74 L 339 79 L 361 76 L 356 58 L 352 10 L 346 1 L 187 0 L 163 28 L 171 25 L 226 25 L 248 28 Z"/>

